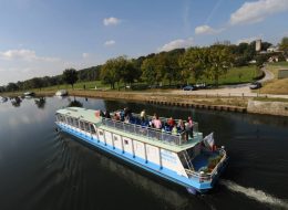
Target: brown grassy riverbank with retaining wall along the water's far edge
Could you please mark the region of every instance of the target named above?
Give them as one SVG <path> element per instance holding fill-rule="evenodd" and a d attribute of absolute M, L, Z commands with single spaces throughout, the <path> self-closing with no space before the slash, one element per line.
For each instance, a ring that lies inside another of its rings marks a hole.
<path fill-rule="evenodd" d="M 35 92 L 37 96 L 53 96 L 54 91 Z M 21 93 L 7 93 L 6 96 L 19 96 Z M 151 104 L 162 104 L 192 108 L 206 108 L 215 111 L 228 111 L 240 113 L 267 114 L 288 116 L 288 99 L 285 98 L 260 98 L 244 96 L 223 95 L 194 95 L 191 92 L 119 92 L 95 90 L 71 90 L 70 96 L 93 97 L 105 99 L 134 101 Z M 269 99 L 269 103 L 267 103 Z M 277 102 L 277 103 L 272 103 Z M 277 104 L 277 112 L 275 107 Z"/>

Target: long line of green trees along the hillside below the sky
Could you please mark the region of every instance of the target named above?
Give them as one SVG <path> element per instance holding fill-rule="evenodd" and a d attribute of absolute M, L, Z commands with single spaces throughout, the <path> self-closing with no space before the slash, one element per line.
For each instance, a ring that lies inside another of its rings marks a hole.
<path fill-rule="evenodd" d="M 61 84 L 73 84 L 78 81 L 102 81 L 111 88 L 126 87 L 135 82 L 146 85 L 160 85 L 163 82 L 172 84 L 187 84 L 191 78 L 195 82 L 209 78 L 215 85 L 219 76 L 227 73 L 232 66 L 248 65 L 256 60 L 261 66 L 271 54 L 257 54 L 256 42 L 240 43 L 238 45 L 213 44 L 210 46 L 176 49 L 169 52 L 152 53 L 137 59 L 125 55 L 110 59 L 103 65 L 92 66 L 76 71 L 68 69 L 61 75 L 34 77 L 31 80 L 9 83 L 0 86 L 0 92 L 31 90 Z M 266 51 L 271 43 L 263 42 L 261 50 Z M 280 61 L 288 56 L 288 38 L 279 43 L 281 50 Z M 278 53 L 279 55 L 279 53 Z"/>

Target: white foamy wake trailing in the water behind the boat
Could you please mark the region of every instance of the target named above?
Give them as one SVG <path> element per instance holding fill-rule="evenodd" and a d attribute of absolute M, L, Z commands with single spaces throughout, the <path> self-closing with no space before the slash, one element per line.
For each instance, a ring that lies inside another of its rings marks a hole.
<path fill-rule="evenodd" d="M 220 180 L 219 181 L 220 185 L 225 186 L 226 188 L 228 188 L 232 191 L 235 192 L 240 192 L 247 197 L 249 197 L 250 199 L 254 199 L 258 202 L 261 203 L 266 203 L 269 204 L 271 207 L 277 208 L 277 209 L 288 209 L 288 201 L 287 200 L 282 200 L 279 198 L 276 198 L 271 195 L 268 195 L 261 190 L 257 190 L 255 188 L 246 188 L 243 186 L 239 186 L 233 181 L 229 180 Z"/>

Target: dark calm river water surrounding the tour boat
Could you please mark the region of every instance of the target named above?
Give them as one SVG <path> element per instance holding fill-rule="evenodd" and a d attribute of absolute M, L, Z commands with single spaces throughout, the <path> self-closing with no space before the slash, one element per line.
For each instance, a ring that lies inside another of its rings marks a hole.
<path fill-rule="evenodd" d="M 185 189 L 58 133 L 68 105 L 131 107 L 174 118 L 193 116 L 228 150 L 213 191 Z M 288 118 L 80 97 L 0 104 L 0 209 L 288 209 Z"/>

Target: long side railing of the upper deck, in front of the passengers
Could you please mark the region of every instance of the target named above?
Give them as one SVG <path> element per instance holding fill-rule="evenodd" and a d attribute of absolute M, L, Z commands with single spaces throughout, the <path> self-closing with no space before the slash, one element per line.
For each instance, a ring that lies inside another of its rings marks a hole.
<path fill-rule="evenodd" d="M 183 145 L 187 143 L 185 136 L 186 133 L 171 134 L 168 132 L 162 132 L 161 129 L 155 129 L 147 126 L 141 126 L 136 124 L 124 123 L 121 120 L 113 120 L 111 118 L 102 117 L 102 123 L 105 126 L 113 127 L 127 133 L 136 134 L 138 136 L 145 136 L 153 140 L 161 140 L 163 143 L 173 145 Z"/>

